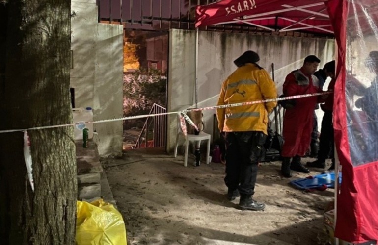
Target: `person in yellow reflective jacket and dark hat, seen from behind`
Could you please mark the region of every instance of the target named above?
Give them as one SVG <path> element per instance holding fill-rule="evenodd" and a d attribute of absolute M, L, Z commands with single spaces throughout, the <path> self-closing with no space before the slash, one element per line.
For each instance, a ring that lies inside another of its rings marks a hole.
<path fill-rule="evenodd" d="M 256 63 L 259 55 L 246 51 L 234 61 L 238 69 L 222 84 L 217 105 L 277 98 L 277 90 L 267 71 Z M 226 141 L 227 197 L 240 196 L 242 210 L 264 210 L 265 204 L 252 199 L 258 162 L 267 138 L 268 114 L 277 102 L 216 109 L 219 131 Z"/>

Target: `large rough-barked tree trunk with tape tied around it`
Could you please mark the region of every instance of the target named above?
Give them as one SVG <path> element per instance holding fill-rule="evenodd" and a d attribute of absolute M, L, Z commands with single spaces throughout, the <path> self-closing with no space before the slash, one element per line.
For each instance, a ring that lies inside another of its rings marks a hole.
<path fill-rule="evenodd" d="M 0 58 L 0 130 L 72 122 L 70 8 L 70 0 L 0 3 L 0 31 L 5 30 L 0 55 L 6 53 Z M 23 132 L 0 133 L 0 243 L 74 244 L 73 128 L 28 133 L 34 192 L 27 180 Z"/>

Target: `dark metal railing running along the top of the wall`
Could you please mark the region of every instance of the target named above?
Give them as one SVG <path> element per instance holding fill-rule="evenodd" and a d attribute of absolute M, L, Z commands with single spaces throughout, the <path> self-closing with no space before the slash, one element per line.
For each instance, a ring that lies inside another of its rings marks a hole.
<path fill-rule="evenodd" d="M 124 29 L 194 30 L 196 6 L 209 5 L 219 1 L 221 0 L 97 0 L 98 18 L 102 23 L 121 24 Z M 201 27 L 201 30 L 277 35 L 270 30 L 246 24 L 211 25 Z M 296 31 L 279 32 L 278 34 L 301 37 L 327 36 Z"/>

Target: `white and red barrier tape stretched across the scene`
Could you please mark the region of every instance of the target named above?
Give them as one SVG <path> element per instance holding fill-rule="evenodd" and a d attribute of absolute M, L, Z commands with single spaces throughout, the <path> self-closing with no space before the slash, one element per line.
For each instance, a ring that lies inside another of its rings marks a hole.
<path fill-rule="evenodd" d="M 306 94 L 306 95 L 288 96 L 288 97 L 282 97 L 282 98 L 262 99 L 262 100 L 256 100 L 256 101 L 226 104 L 226 105 L 216 105 L 216 106 L 209 106 L 209 107 L 202 107 L 202 108 L 185 109 L 185 110 L 182 110 L 182 111 L 174 111 L 174 112 L 164 112 L 164 113 L 149 114 L 149 115 L 145 114 L 145 115 L 123 117 L 123 118 L 105 119 L 105 120 L 99 120 L 99 121 L 84 122 L 84 124 L 117 122 L 117 121 L 132 120 L 132 119 L 139 119 L 139 118 L 148 118 L 148 117 L 155 117 L 155 116 L 162 116 L 162 115 L 171 115 L 171 114 L 178 114 L 178 113 L 185 114 L 186 112 L 190 112 L 190 111 L 204 111 L 204 110 L 212 110 L 212 109 L 221 109 L 221 108 L 236 107 L 236 106 L 242 106 L 242 105 L 252 105 L 252 104 L 259 104 L 259 103 L 268 103 L 268 102 L 274 102 L 274 101 L 288 100 L 288 99 L 313 97 L 313 96 L 319 96 L 319 95 L 325 95 L 325 94 L 331 94 L 331 93 L 333 93 L 333 91 L 314 93 L 314 94 Z M 185 116 L 184 116 L 185 119 L 189 118 L 186 114 L 185 114 Z M 51 125 L 51 126 L 31 127 L 31 128 L 24 128 L 24 129 L 0 130 L 0 133 L 13 133 L 13 132 L 23 132 L 23 131 L 27 131 L 27 130 L 41 130 L 41 129 L 48 129 L 48 128 L 69 127 L 69 126 L 75 126 L 75 125 L 82 124 L 82 123 L 83 122 L 59 124 L 59 125 Z M 197 126 L 194 123 L 190 123 L 190 124 L 197 128 Z M 198 128 L 197 128 L 197 130 L 198 130 Z"/>

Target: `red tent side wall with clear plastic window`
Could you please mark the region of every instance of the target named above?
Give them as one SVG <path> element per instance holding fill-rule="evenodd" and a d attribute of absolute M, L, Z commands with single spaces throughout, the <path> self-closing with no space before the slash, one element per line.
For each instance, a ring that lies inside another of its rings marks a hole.
<path fill-rule="evenodd" d="M 378 240 L 378 146 L 375 144 L 378 131 L 366 110 L 357 108 L 358 103 L 353 101 L 357 94 L 365 97 L 369 93 L 369 87 L 359 86 L 358 79 L 364 79 L 371 72 L 365 64 L 359 63 L 365 63 L 371 46 L 374 49 L 378 43 L 378 36 L 374 35 L 378 30 L 377 6 L 377 0 L 330 0 L 327 3 L 339 48 L 333 124 L 342 184 L 337 194 L 335 236 L 355 243 Z M 367 44 L 369 39 L 373 40 L 373 45 Z M 377 108 L 376 101 L 370 102 Z"/>

